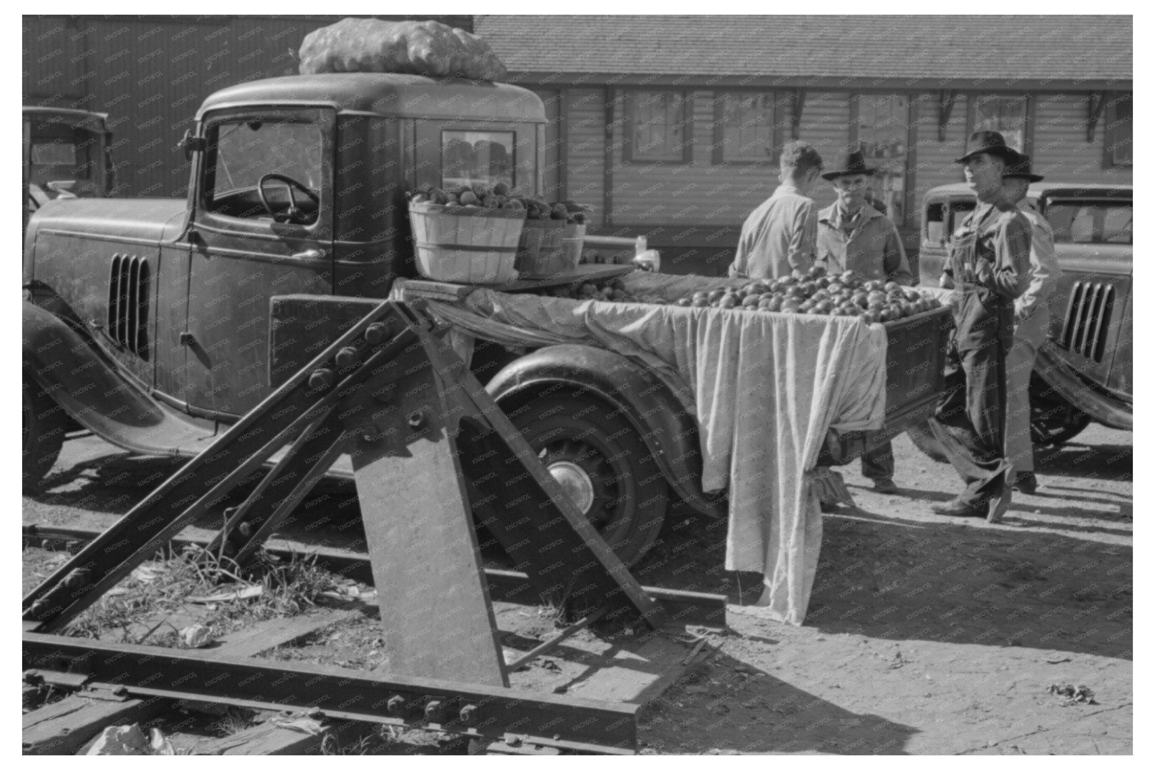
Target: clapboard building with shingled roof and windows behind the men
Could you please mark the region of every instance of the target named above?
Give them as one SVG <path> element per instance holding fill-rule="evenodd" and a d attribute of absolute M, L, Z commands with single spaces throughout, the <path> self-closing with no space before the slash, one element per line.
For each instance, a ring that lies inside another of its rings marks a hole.
<path fill-rule="evenodd" d="M 860 145 L 917 248 L 919 202 L 975 129 L 1049 180 L 1131 182 L 1130 16 L 477 16 L 551 122 L 549 185 L 663 270 L 724 272 L 781 145 Z M 815 200 L 828 204 L 824 185 Z"/>

